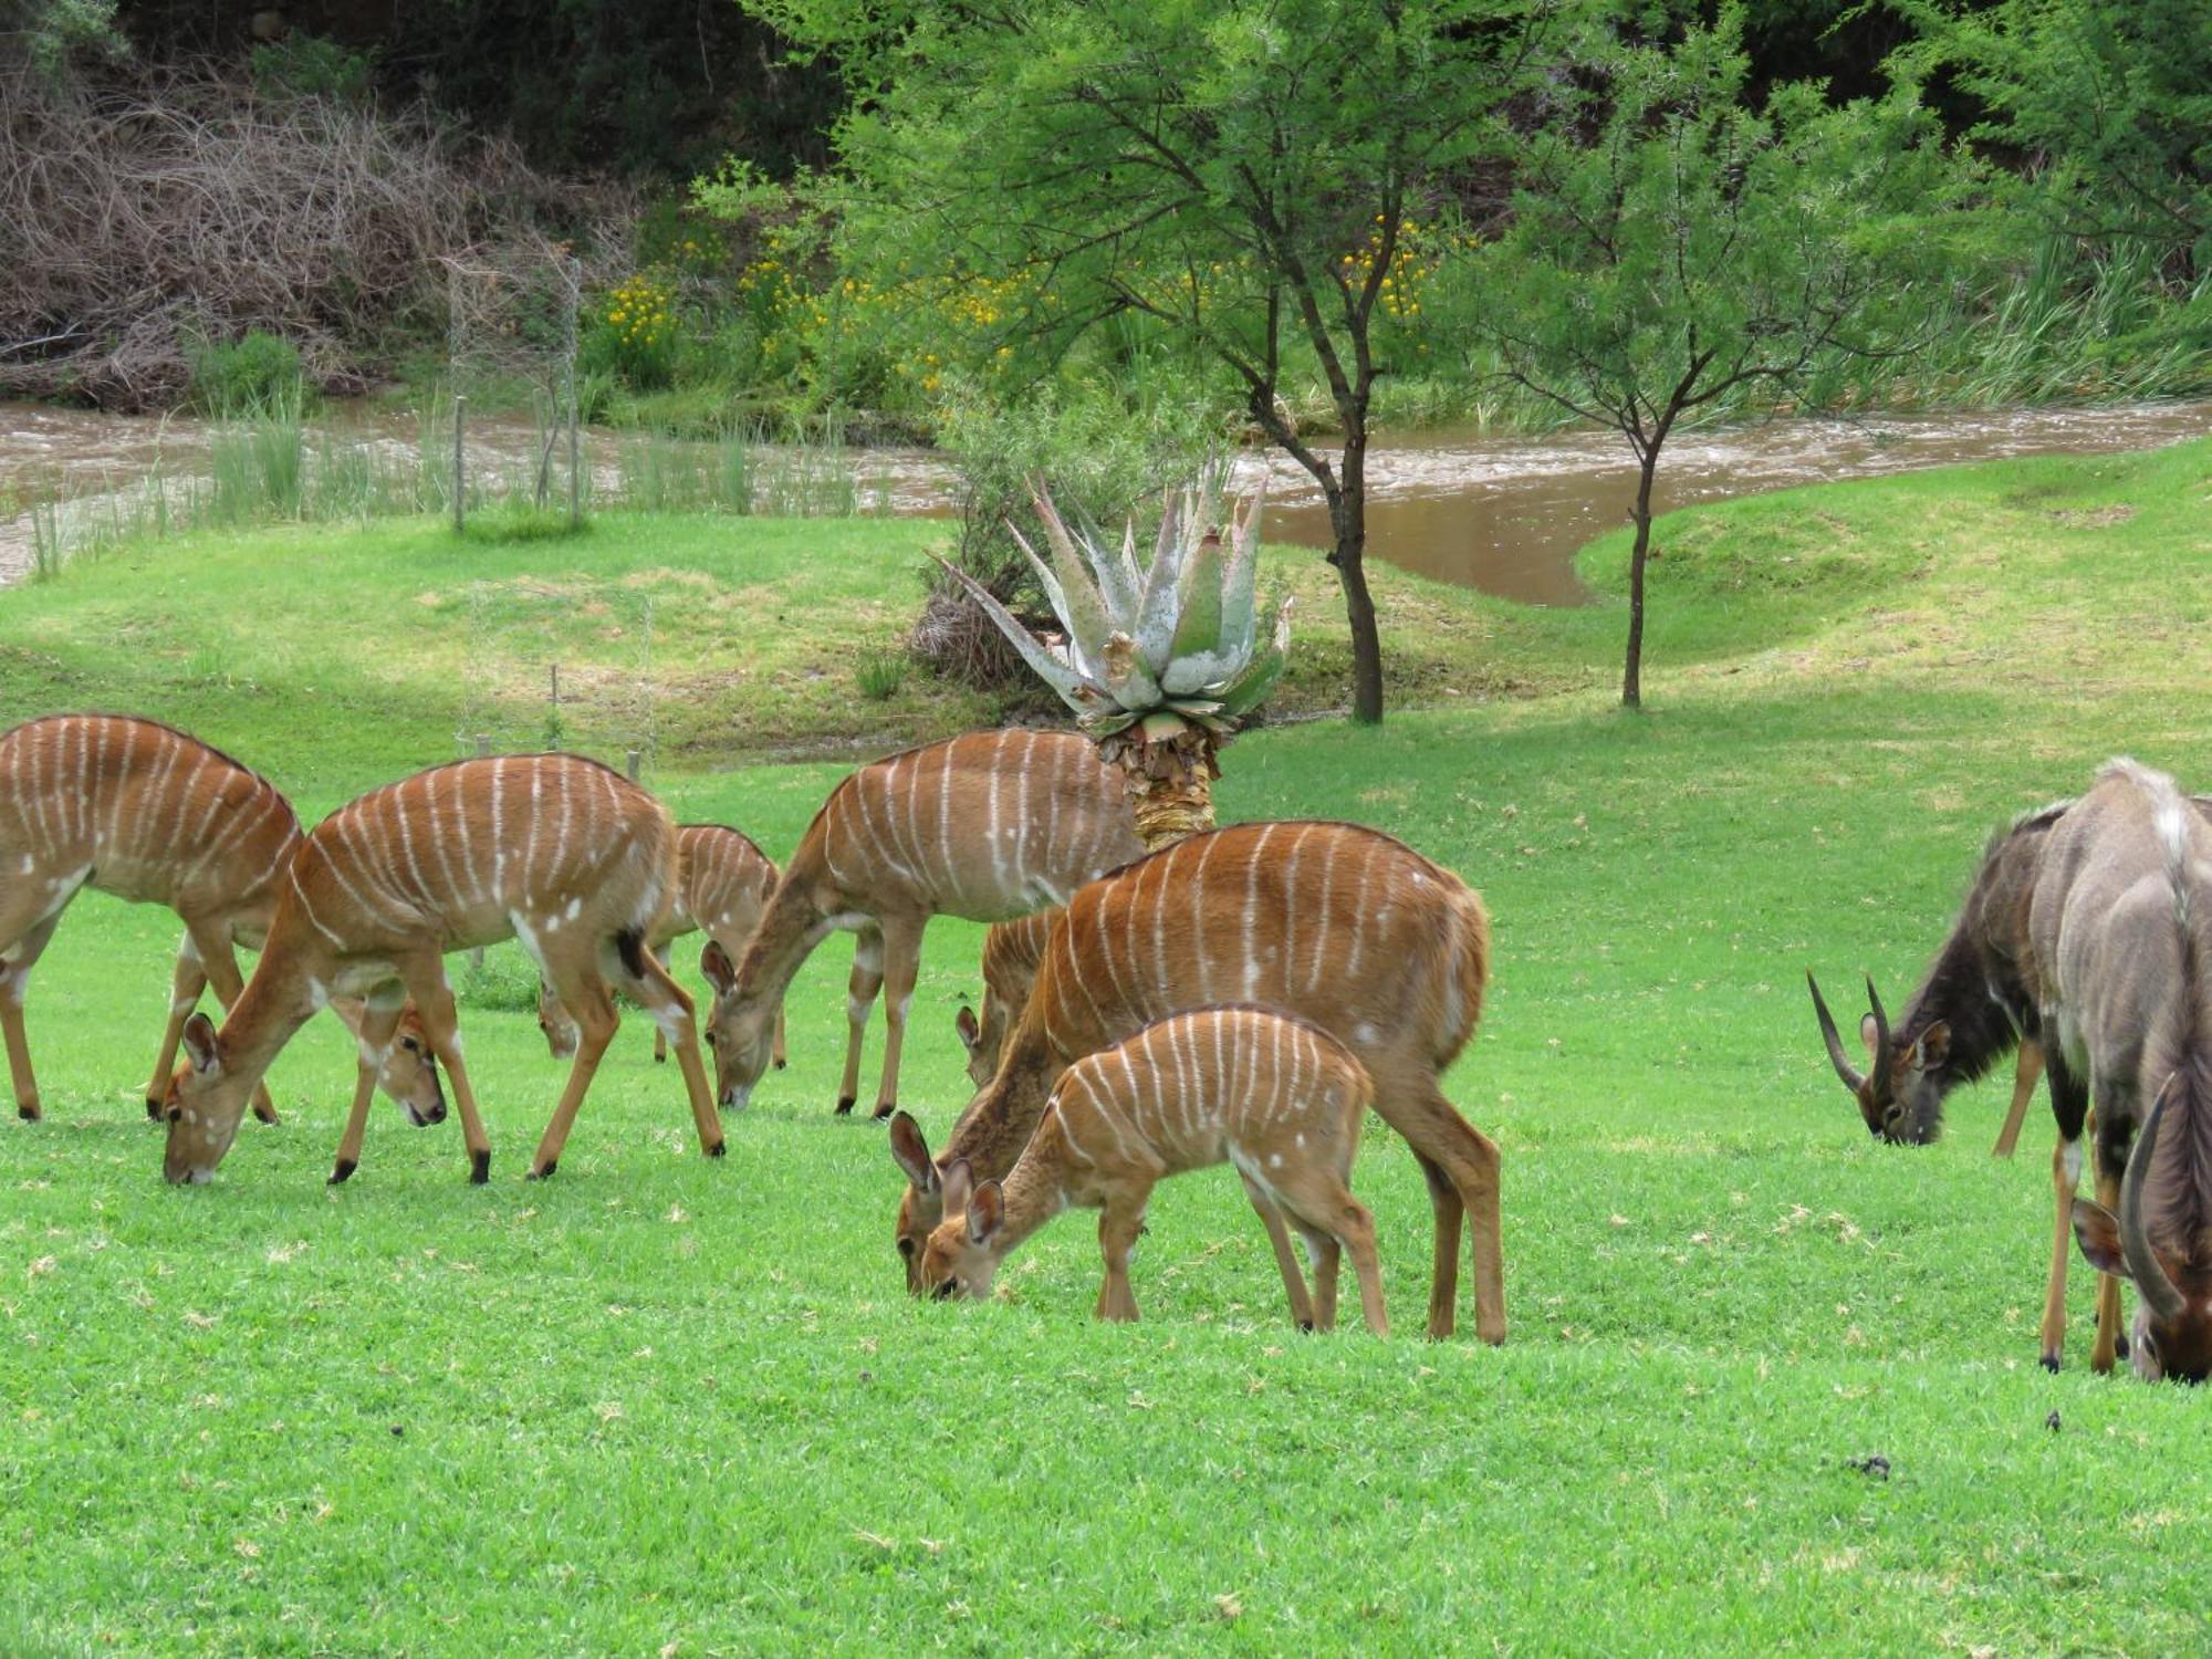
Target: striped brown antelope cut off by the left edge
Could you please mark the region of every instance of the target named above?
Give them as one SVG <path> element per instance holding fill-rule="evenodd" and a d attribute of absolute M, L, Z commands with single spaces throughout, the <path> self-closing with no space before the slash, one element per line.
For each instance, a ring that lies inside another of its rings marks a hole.
<path fill-rule="evenodd" d="M 157 721 L 51 714 L 0 732 L 0 1031 L 15 1113 L 40 1117 L 22 1024 L 31 969 L 80 891 L 166 905 L 184 920 L 168 1029 L 146 1084 L 146 1115 L 159 1119 L 186 1015 L 210 984 L 226 1009 L 237 1000 L 232 949 L 261 949 L 303 841 L 292 803 L 265 779 Z M 332 1013 L 358 1031 L 361 1002 L 334 1002 Z M 378 1084 L 416 1124 L 445 1117 L 414 1009 Z M 268 1088 L 254 1088 L 254 1117 L 276 1121 Z"/>

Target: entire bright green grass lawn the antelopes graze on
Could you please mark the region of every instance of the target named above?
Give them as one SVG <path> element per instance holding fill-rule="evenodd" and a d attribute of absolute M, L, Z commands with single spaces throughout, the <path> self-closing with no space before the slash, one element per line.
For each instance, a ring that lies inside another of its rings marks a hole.
<path fill-rule="evenodd" d="M 456 1124 L 389 1106 L 321 1183 L 352 1075 L 330 1024 L 272 1075 L 288 1121 L 168 1190 L 137 1099 L 177 929 L 86 898 L 31 995 L 49 1121 L 0 1128 L 0 1650 L 2203 1646 L 2212 1400 L 2088 1374 L 2079 1265 L 2068 1369 L 2035 1365 L 2048 1115 L 1993 1161 L 2006 1077 L 1940 1146 L 1876 1146 L 1803 971 L 1896 1006 L 2011 812 L 2115 752 L 2212 776 L 2208 522 L 2212 442 L 1686 513 L 1648 714 L 1610 706 L 1617 604 L 1391 584 L 1429 706 L 1239 739 L 1223 816 L 1360 818 L 1491 905 L 1495 995 L 1447 1091 L 1504 1148 L 1502 1349 L 1413 1334 L 1429 1214 L 1380 1126 L 1354 1186 L 1389 1343 L 1287 1327 L 1228 1172 L 1159 1190 L 1141 1325 L 1091 1323 L 1086 1217 L 993 1305 L 909 1303 L 883 1135 L 830 1115 L 838 942 L 723 1164 L 633 1018 L 560 1177 L 524 1186 L 560 1068 L 495 951 L 462 1006 L 489 1188 Z M 695 723 L 659 712 L 657 783 L 783 854 L 841 765 L 721 757 L 973 712 L 838 679 L 927 538 L 148 549 L 0 595 L 0 719 L 170 714 L 325 810 L 449 754 L 471 697 L 526 732 L 531 641 L 619 679 L 641 588 L 659 672 L 703 686 Z M 1590 551 L 1601 588 L 1619 553 Z M 1334 615 L 1303 617 L 1321 659 Z M 902 1093 L 933 1135 L 978 942 L 938 922 L 922 964 Z"/>

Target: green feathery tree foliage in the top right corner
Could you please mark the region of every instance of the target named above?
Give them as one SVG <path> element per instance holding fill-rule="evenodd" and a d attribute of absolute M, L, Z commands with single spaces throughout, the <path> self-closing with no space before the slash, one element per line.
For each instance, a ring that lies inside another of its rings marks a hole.
<path fill-rule="evenodd" d="M 2053 223 L 2146 239 L 2181 285 L 2212 272 L 2212 4 L 1916 0 L 1893 66 L 1951 71 L 1989 117 L 1971 137 L 2035 170 Z"/>

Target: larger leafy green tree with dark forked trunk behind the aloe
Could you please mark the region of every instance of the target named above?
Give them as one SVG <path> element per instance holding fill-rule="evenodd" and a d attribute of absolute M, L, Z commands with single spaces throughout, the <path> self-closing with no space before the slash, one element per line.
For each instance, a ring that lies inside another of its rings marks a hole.
<path fill-rule="evenodd" d="M 973 283 L 1037 365 L 1141 319 L 1314 476 L 1360 721 L 1383 719 L 1367 418 L 1400 243 L 1498 148 L 1571 2 L 745 0 L 854 82 L 847 250 L 883 285 Z M 1281 396 L 1307 372 L 1334 453 Z"/>

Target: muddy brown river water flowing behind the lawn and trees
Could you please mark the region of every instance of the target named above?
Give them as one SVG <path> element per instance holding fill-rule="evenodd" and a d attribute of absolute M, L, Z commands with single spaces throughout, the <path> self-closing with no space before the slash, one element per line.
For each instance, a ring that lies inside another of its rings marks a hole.
<path fill-rule="evenodd" d="M 365 442 L 414 451 L 414 416 L 338 409 L 334 425 Z M 1661 509 L 1754 495 L 1787 484 L 1865 478 L 2000 456 L 2152 449 L 2212 431 L 2212 403 L 2097 409 L 1993 409 L 1863 420 L 1770 420 L 1677 436 L 1659 467 Z M 613 489 L 615 436 L 591 434 L 595 487 Z M 0 582 L 31 562 L 38 495 L 126 489 L 159 469 L 204 469 L 208 431 L 186 418 L 104 416 L 0 403 Z M 520 422 L 471 425 L 471 471 L 513 476 L 535 456 Z M 951 511 L 956 478 L 929 451 L 852 451 L 863 502 L 894 513 Z M 1573 555 L 1628 515 L 1635 467 L 1613 434 L 1498 438 L 1473 431 L 1383 436 L 1369 451 L 1367 549 L 1444 582 L 1533 604 L 1577 604 Z M 1239 484 L 1267 480 L 1270 540 L 1329 544 L 1318 489 L 1287 456 L 1245 453 Z M 15 513 L 9 518 L 7 513 Z"/>

